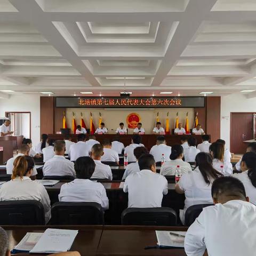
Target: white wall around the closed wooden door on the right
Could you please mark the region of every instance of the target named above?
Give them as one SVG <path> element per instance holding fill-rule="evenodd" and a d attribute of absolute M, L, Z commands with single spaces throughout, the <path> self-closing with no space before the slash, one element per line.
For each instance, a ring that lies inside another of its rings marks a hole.
<path fill-rule="evenodd" d="M 244 94 L 230 94 L 221 97 L 220 137 L 230 148 L 230 113 L 255 112 L 256 98 L 247 99 Z M 252 138 L 251 138 L 252 139 Z"/>

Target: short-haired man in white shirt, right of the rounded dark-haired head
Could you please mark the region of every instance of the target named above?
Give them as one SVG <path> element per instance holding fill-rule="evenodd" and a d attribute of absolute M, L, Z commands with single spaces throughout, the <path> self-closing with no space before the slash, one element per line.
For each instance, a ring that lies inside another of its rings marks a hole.
<path fill-rule="evenodd" d="M 92 146 L 91 157 L 96 166 L 91 178 L 112 180 L 113 175 L 110 166 L 100 162 L 100 158 L 103 156 L 103 154 L 104 152 L 101 144 L 94 144 Z"/>

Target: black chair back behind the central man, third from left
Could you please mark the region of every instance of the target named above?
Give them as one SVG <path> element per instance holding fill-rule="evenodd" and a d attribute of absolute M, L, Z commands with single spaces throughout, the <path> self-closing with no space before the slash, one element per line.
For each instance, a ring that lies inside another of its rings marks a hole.
<path fill-rule="evenodd" d="M 127 208 L 122 212 L 122 225 L 176 226 L 177 214 L 169 207 Z"/>

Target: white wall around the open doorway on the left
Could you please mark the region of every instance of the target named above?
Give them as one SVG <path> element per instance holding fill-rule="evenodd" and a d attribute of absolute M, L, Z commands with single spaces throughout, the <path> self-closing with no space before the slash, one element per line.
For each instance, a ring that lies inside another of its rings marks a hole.
<path fill-rule="evenodd" d="M 0 99 L 0 117 L 5 111 L 31 112 L 31 140 L 35 146 L 40 140 L 40 97 L 39 95 L 11 95 L 9 99 Z"/>

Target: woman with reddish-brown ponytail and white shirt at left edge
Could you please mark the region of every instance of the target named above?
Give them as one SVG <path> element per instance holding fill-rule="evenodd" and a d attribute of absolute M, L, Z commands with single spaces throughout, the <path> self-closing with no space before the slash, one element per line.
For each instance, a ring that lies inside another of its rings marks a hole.
<path fill-rule="evenodd" d="M 15 159 L 12 180 L 2 185 L 0 201 L 39 201 L 44 206 L 45 223 L 47 223 L 51 218 L 50 198 L 41 183 L 30 179 L 34 166 L 35 163 L 31 156 L 18 156 Z"/>

